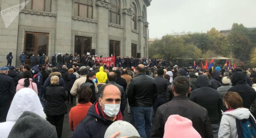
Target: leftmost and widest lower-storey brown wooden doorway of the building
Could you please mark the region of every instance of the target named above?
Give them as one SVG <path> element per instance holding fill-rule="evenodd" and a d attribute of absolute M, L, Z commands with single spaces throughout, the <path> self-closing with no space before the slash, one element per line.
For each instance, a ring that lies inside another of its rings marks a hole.
<path fill-rule="evenodd" d="M 26 55 L 26 64 L 30 64 L 30 56 L 33 54 L 48 55 L 49 33 L 25 32 L 24 51 Z"/>

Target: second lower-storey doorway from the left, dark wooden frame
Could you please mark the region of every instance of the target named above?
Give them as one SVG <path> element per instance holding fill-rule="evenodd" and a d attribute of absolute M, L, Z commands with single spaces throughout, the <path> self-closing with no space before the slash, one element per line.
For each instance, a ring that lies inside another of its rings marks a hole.
<path fill-rule="evenodd" d="M 91 38 L 75 36 L 75 53 L 79 55 L 91 53 Z"/>

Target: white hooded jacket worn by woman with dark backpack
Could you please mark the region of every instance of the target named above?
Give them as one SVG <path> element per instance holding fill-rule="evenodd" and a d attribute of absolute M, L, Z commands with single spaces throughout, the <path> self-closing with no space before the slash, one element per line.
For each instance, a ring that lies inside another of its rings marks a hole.
<path fill-rule="evenodd" d="M 248 119 L 251 115 L 249 109 L 238 108 L 233 111 L 222 113 L 221 124 L 219 126 L 219 138 L 238 138 L 236 118 Z M 253 117 L 253 116 L 252 116 Z M 255 120 L 255 118 L 253 118 Z"/>

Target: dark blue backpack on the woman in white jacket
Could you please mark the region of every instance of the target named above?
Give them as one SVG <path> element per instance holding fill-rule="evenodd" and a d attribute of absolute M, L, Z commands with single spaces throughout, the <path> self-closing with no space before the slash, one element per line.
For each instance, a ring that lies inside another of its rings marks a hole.
<path fill-rule="evenodd" d="M 248 119 L 236 118 L 238 138 L 256 138 L 256 123 L 250 115 Z"/>

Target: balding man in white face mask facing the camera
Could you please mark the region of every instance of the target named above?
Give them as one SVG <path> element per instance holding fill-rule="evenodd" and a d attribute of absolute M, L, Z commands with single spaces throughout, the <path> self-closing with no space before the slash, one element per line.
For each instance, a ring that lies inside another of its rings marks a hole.
<path fill-rule="evenodd" d="M 121 92 L 113 84 L 101 87 L 98 102 L 95 102 L 74 131 L 73 138 L 103 138 L 108 127 L 123 120 L 120 112 Z"/>

